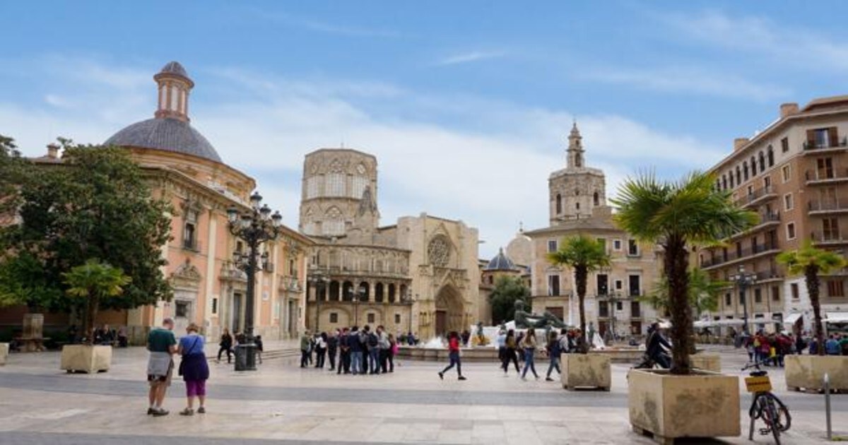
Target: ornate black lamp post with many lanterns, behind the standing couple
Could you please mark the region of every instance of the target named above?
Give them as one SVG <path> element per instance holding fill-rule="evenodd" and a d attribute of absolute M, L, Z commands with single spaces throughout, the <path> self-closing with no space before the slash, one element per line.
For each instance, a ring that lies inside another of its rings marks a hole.
<path fill-rule="evenodd" d="M 236 370 L 256 370 L 256 344 L 254 343 L 254 298 L 256 293 L 256 272 L 268 264 L 268 253 L 259 255 L 259 246 L 266 241 L 275 240 L 280 235 L 282 214 L 262 204 L 259 192 L 250 196 L 250 209 L 239 210 L 234 207 L 226 210 L 230 233 L 247 243 L 248 253 L 232 253 L 236 267 L 248 275 L 248 289 L 244 313 L 244 334 L 246 343 L 239 344 L 236 350 Z"/>

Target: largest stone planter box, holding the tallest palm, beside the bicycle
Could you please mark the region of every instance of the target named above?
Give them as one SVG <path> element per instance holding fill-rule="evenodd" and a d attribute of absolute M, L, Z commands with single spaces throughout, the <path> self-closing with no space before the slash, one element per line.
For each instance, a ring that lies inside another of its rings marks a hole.
<path fill-rule="evenodd" d="M 738 437 L 741 432 L 736 375 L 630 370 L 628 405 L 633 431 L 659 443 L 672 444 L 677 437 Z"/>

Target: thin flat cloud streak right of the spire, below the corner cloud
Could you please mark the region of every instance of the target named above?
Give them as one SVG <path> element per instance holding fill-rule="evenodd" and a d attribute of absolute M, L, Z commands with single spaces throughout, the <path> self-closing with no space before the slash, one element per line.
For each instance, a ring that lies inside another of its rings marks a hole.
<path fill-rule="evenodd" d="M 768 101 L 789 95 L 789 90 L 766 82 L 751 82 L 737 75 L 723 75 L 695 68 L 638 70 L 624 67 L 589 70 L 585 78 L 644 90 L 675 94 L 706 94 Z"/>

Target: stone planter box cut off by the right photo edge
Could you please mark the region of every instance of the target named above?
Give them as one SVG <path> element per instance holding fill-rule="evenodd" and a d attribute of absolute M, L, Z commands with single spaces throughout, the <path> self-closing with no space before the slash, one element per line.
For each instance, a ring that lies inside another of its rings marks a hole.
<path fill-rule="evenodd" d="M 784 365 L 789 390 L 823 391 L 827 373 L 832 390 L 848 392 L 848 356 L 787 355 Z"/>

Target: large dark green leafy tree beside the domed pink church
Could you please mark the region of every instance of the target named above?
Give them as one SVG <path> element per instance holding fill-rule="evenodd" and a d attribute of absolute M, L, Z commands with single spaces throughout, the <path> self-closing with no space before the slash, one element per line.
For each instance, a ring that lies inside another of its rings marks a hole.
<path fill-rule="evenodd" d="M 170 240 L 170 203 L 152 196 L 142 169 L 124 149 L 64 147 L 61 163 L 40 164 L 20 186 L 20 224 L 8 228 L 15 252 L 42 263 L 43 281 L 65 294 L 64 272 L 97 258 L 132 281 L 123 298 L 103 309 L 131 309 L 169 299 L 161 248 Z M 48 310 L 79 308 L 69 298 L 43 302 Z"/>

